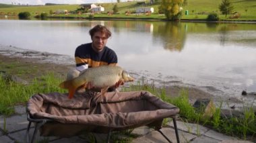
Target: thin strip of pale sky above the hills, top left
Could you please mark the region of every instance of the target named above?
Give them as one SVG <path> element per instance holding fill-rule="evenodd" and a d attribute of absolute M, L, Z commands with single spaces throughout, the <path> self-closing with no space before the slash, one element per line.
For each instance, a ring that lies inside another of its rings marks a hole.
<path fill-rule="evenodd" d="M 121 0 L 125 1 L 125 0 Z M 0 3 L 21 5 L 44 5 L 45 3 L 81 4 L 81 3 L 115 3 L 117 0 L 0 0 Z"/>

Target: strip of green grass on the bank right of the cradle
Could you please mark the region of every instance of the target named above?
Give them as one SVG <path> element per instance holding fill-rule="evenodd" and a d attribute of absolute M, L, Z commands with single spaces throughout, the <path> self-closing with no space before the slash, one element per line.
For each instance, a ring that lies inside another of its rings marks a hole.
<path fill-rule="evenodd" d="M 142 84 L 141 84 L 142 83 Z M 197 112 L 197 109 L 189 103 L 189 95 L 186 89 L 182 89 L 177 97 L 167 97 L 164 87 L 156 88 L 154 84 L 148 84 L 144 81 L 138 82 L 137 85 L 131 85 L 129 88 L 123 88 L 123 91 L 149 91 L 160 97 L 163 101 L 176 105 L 180 109 L 180 120 L 201 124 L 212 128 L 217 132 L 229 136 L 236 136 L 243 140 L 255 141 L 256 139 L 256 115 L 251 107 L 244 107 L 243 115 L 240 117 L 226 117 L 222 115 L 222 103 L 216 107 L 212 117 L 204 117 L 203 113 Z"/>

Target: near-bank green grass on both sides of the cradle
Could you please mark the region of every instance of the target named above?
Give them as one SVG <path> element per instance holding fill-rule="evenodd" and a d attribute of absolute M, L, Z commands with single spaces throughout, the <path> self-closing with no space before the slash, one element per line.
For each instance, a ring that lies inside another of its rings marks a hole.
<path fill-rule="evenodd" d="M 25 104 L 35 93 L 65 93 L 66 90 L 58 87 L 63 81 L 54 73 L 35 78 L 29 85 L 22 85 L 9 81 L 8 78 L 0 76 L 0 114 L 11 115 L 14 111 L 13 106 Z M 183 122 L 192 122 L 202 124 L 224 134 L 242 138 L 243 140 L 255 140 L 256 135 L 256 115 L 252 107 L 246 108 L 241 117 L 223 117 L 220 107 L 216 108 L 212 117 L 205 117 L 203 113 L 198 112 L 190 103 L 188 93 L 185 89 L 181 90 L 178 97 L 169 98 L 164 88 L 156 88 L 153 84 L 137 83 L 129 88 L 123 88 L 122 91 L 149 91 L 160 97 L 163 101 L 172 103 L 180 108 L 180 120 Z"/>

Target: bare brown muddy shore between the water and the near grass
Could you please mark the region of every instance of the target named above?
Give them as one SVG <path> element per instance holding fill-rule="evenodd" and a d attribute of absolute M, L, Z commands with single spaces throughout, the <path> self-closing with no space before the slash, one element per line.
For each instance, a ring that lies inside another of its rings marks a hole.
<path fill-rule="evenodd" d="M 2 71 L 26 80 L 39 77 L 48 72 L 58 73 L 65 77 L 67 71 L 75 67 L 74 58 L 71 56 L 37 52 L 3 45 L 0 45 L 0 63 L 0 69 Z M 139 77 L 138 73 L 131 74 Z M 198 98 L 212 98 L 216 102 L 228 101 L 230 105 L 243 103 L 242 96 L 241 99 L 232 97 L 226 99 L 221 98 L 224 97 L 222 95 L 224 93 L 214 87 L 196 87 L 182 82 L 172 82 L 172 85 L 164 86 L 166 88 L 166 95 L 169 97 L 176 97 L 179 95 L 181 89 L 186 89 L 191 102 Z M 239 107 L 239 105 L 236 106 Z"/>

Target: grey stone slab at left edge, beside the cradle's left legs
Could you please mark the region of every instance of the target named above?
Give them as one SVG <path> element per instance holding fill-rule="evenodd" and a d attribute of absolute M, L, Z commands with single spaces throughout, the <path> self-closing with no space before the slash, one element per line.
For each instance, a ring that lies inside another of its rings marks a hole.
<path fill-rule="evenodd" d="M 6 117 L 4 123 L 4 117 L 0 117 L 0 128 L 7 130 L 7 132 L 15 132 L 17 130 L 26 129 L 28 126 L 27 115 L 13 115 L 11 117 Z M 5 126 L 5 127 L 4 127 Z"/>

